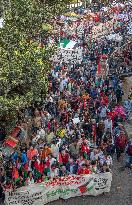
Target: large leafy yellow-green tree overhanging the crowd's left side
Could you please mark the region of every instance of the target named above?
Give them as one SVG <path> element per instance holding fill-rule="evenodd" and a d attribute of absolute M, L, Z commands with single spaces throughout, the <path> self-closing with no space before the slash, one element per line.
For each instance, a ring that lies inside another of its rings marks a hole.
<path fill-rule="evenodd" d="M 69 0 L 7 0 L 2 2 L 0 29 L 0 116 L 12 120 L 17 111 L 44 99 L 49 58 L 54 47 L 42 45 L 54 16 Z M 43 38 L 43 39 L 42 39 Z M 40 46 L 41 45 L 41 46 Z"/>

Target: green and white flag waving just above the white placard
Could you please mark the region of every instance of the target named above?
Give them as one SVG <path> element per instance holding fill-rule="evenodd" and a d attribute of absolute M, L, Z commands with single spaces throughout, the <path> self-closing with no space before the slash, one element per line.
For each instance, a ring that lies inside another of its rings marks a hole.
<path fill-rule="evenodd" d="M 62 49 L 74 49 L 77 45 L 76 41 L 71 41 L 67 38 L 64 38 L 63 40 L 60 40 L 58 47 Z"/>

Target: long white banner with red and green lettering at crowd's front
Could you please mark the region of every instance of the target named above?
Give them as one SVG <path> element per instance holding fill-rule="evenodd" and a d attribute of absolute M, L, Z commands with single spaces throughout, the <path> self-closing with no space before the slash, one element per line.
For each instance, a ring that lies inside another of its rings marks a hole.
<path fill-rule="evenodd" d="M 44 205 L 59 198 L 110 192 L 111 173 L 69 175 L 5 193 L 6 205 Z"/>

